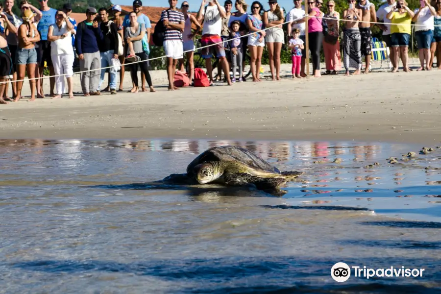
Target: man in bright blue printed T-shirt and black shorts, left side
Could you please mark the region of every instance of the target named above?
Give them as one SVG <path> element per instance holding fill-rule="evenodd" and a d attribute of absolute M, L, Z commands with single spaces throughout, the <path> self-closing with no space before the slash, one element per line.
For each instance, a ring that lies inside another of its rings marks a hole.
<path fill-rule="evenodd" d="M 41 20 L 37 25 L 38 32 L 40 33 L 41 36 L 41 39 L 38 42 L 37 59 L 39 62 L 40 76 L 43 76 L 43 71 L 45 69 L 45 62 L 49 67 L 49 74 L 52 76 L 54 75 L 54 72 L 52 66 L 52 58 L 50 57 L 50 42 L 48 41 L 48 31 L 49 31 L 49 25 L 55 23 L 55 14 L 57 13 L 57 10 L 50 8 L 48 6 L 48 0 L 39 0 L 39 1 L 40 1 L 40 11 L 43 14 L 43 16 L 41 17 Z M 40 80 L 42 95 L 44 95 L 43 81 L 44 79 Z M 53 94 L 53 89 L 55 86 L 55 78 L 50 77 L 49 83 L 50 83 L 50 97 L 53 97 L 55 96 Z"/>

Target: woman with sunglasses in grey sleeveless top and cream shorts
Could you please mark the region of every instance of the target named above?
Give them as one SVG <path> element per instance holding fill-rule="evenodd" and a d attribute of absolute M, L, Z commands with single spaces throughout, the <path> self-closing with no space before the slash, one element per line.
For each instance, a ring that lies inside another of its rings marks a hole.
<path fill-rule="evenodd" d="M 280 80 L 280 51 L 282 45 L 285 44 L 285 34 L 283 33 L 282 24 L 285 22 L 282 9 L 280 9 L 277 0 L 270 0 L 270 10 L 265 11 L 263 22 L 268 28 L 265 41 L 268 48 L 268 58 L 270 59 L 271 79 Z M 275 68 L 275 76 L 274 76 Z"/>

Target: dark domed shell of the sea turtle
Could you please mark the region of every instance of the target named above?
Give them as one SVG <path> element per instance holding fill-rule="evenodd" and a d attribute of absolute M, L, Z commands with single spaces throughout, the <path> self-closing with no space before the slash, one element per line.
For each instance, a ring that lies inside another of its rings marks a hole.
<path fill-rule="evenodd" d="M 196 165 L 206 161 L 227 161 L 240 162 L 244 166 L 249 166 L 251 169 L 259 172 L 279 173 L 280 171 L 271 166 L 268 162 L 250 152 L 249 150 L 236 146 L 220 146 L 212 147 L 205 150 L 197 156 L 187 167 L 187 173 L 192 174 Z"/>

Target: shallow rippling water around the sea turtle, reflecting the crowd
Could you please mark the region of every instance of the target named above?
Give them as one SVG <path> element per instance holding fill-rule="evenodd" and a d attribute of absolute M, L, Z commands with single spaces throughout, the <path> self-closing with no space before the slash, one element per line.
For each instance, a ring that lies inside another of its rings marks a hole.
<path fill-rule="evenodd" d="M 305 174 L 283 197 L 151 183 L 226 144 Z M 441 291 L 441 149 L 421 147 L 2 140 L 0 293 Z M 337 283 L 337 262 L 425 271 Z"/>

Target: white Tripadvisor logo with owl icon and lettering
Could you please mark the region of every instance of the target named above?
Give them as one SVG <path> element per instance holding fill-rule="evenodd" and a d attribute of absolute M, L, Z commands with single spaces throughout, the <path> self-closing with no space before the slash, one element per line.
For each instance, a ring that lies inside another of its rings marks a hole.
<path fill-rule="evenodd" d="M 337 282 L 345 282 L 351 276 L 351 268 L 354 277 L 364 277 L 366 279 L 372 277 L 422 277 L 425 269 L 409 269 L 405 267 L 390 267 L 386 269 L 371 269 L 366 266 L 349 267 L 344 262 L 338 262 L 331 268 L 331 276 Z"/>

